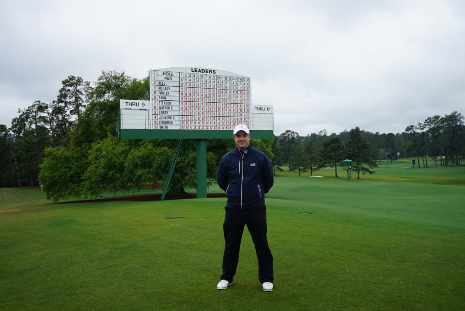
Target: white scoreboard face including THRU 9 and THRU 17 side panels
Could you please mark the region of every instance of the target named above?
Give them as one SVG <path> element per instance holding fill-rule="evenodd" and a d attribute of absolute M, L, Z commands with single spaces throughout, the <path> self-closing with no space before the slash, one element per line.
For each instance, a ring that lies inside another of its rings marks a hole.
<path fill-rule="evenodd" d="M 273 131 L 273 107 L 251 105 L 250 77 L 212 68 L 151 69 L 149 88 L 148 101 L 120 100 L 121 130 L 231 131 L 246 124 Z"/>

